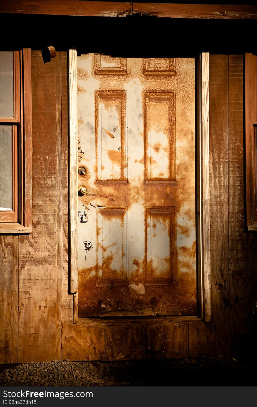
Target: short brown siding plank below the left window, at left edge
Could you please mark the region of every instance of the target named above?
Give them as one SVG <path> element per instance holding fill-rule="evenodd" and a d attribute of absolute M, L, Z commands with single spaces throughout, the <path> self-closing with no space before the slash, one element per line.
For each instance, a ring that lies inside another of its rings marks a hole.
<path fill-rule="evenodd" d="M 18 361 L 19 236 L 0 236 L 0 363 Z"/>

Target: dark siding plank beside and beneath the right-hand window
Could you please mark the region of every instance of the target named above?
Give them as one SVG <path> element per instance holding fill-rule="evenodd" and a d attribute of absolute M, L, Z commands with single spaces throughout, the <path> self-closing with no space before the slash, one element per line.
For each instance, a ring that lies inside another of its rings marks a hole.
<path fill-rule="evenodd" d="M 257 234 L 244 230 L 243 55 L 229 56 L 229 270 L 231 356 L 256 352 Z"/>

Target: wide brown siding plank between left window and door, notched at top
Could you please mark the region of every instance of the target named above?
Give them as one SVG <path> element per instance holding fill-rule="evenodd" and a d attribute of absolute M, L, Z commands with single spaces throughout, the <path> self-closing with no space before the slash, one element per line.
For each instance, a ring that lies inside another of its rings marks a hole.
<path fill-rule="evenodd" d="M 61 358 L 60 57 L 32 52 L 32 224 L 20 236 L 19 362 Z M 57 120 L 57 122 L 56 122 Z M 60 146 L 57 144 L 60 143 Z"/>

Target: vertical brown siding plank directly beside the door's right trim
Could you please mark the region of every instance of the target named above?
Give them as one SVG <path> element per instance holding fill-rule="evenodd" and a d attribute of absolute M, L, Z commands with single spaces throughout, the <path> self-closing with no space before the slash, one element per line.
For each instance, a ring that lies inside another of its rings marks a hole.
<path fill-rule="evenodd" d="M 229 356 L 228 57 L 210 56 L 212 317 L 218 354 Z"/>

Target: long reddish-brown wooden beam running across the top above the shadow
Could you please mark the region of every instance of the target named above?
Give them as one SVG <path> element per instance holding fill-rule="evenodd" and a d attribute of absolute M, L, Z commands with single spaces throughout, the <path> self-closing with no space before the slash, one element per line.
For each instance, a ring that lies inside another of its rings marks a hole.
<path fill-rule="evenodd" d="M 47 15 L 84 15 L 116 17 L 133 13 L 158 15 L 171 18 L 253 19 L 257 18 L 255 4 L 177 4 L 130 3 L 82 0 L 17 0 L 1 1 L 0 13 L 25 13 Z"/>

